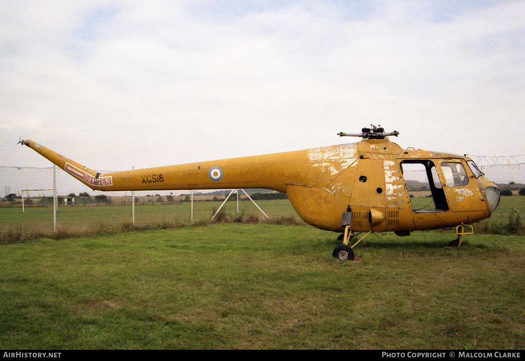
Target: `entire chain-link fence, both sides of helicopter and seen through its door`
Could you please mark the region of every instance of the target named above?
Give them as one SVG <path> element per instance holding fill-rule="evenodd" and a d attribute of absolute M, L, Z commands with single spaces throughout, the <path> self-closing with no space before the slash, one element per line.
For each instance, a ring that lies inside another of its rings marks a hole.
<path fill-rule="evenodd" d="M 491 220 L 506 221 L 514 217 L 519 221 L 525 212 L 525 156 L 471 157 L 501 190 L 500 206 Z M 413 205 L 420 209 L 436 207 L 424 169 L 407 167 L 404 178 Z M 85 235 L 100 230 L 172 227 L 207 221 L 218 210 L 215 217 L 220 220 L 301 222 L 286 195 L 264 189 L 246 190 L 247 194 L 244 190 L 104 193 L 91 190 L 57 167 L 9 166 L 0 166 L 0 186 L 3 187 L 1 239 L 24 239 L 57 232 Z"/>

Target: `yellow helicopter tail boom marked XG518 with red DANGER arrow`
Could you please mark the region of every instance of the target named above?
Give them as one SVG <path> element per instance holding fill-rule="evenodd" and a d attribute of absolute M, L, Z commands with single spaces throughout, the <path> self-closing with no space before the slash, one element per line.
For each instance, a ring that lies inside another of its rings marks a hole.
<path fill-rule="evenodd" d="M 249 156 L 101 174 L 34 141 L 23 140 L 20 143 L 95 190 L 267 188 L 286 192 L 289 182 L 279 177 L 278 175 L 283 173 L 277 170 L 283 163 L 289 162 L 286 154 Z"/>

